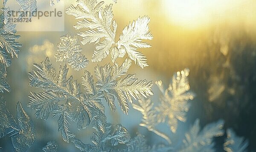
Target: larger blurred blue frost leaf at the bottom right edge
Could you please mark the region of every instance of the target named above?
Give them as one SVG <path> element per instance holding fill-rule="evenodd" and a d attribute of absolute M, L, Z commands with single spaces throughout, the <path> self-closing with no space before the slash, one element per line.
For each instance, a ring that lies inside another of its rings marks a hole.
<path fill-rule="evenodd" d="M 190 131 L 185 134 L 186 139 L 183 140 L 183 148 L 180 152 L 214 152 L 213 138 L 222 136 L 224 121 L 219 120 L 215 123 L 207 124 L 200 131 L 199 119 L 197 119 Z"/>

